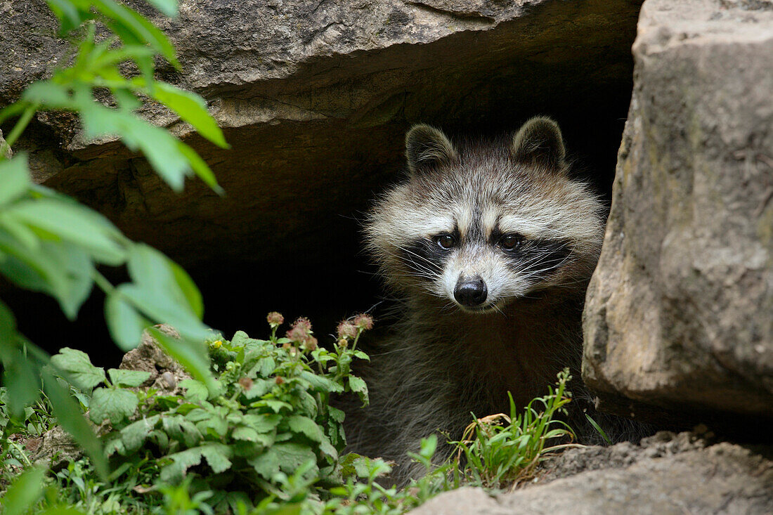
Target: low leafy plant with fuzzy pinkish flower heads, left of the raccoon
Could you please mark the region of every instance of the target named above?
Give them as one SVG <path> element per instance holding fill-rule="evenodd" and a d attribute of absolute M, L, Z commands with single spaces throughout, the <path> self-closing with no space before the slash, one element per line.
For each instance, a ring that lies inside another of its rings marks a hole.
<path fill-rule="evenodd" d="M 240 331 L 230 341 L 208 342 L 213 386 L 185 379 L 171 394 L 162 394 L 136 388 L 149 375 L 141 373 L 128 384 L 131 389 L 120 381 L 94 388 L 99 381 L 92 381 L 79 392 L 92 415 L 105 404 L 97 403 L 97 393 L 131 397 L 125 406 L 107 403 L 92 416 L 97 423 L 110 419 L 103 440 L 111 464 L 138 485 L 126 495 L 185 483 L 192 493 L 208 492 L 216 513 L 235 513 L 237 506 L 260 511 L 274 500 L 290 502 L 298 484 L 314 503 L 325 496 L 315 484 L 341 483 L 344 413 L 329 401 L 332 394 L 353 392 L 367 403 L 365 382 L 352 375 L 350 365 L 355 358 L 368 359 L 356 343 L 373 319 L 358 315 L 342 322 L 346 330 L 339 329 L 332 349 L 319 346 L 308 319 L 295 320 L 284 337 L 277 336 L 282 315 L 272 312 L 267 322 L 268 339 Z M 79 377 L 104 379 L 80 354 L 71 367 Z"/>

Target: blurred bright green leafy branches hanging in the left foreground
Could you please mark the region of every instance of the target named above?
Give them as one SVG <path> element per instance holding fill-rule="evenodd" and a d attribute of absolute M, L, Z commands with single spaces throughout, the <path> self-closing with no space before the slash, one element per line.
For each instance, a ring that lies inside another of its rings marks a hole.
<path fill-rule="evenodd" d="M 175 0 L 150 3 L 175 15 Z M 209 335 L 201 322 L 203 302 L 186 272 L 151 247 L 128 240 L 99 213 L 33 184 L 26 155 L 9 158 L 8 151 L 37 111 L 71 111 L 80 119 L 83 138 L 121 138 L 128 148 L 142 152 L 175 191 L 182 189 L 186 176 L 195 173 L 222 193 L 192 148 L 135 111 L 143 101 L 158 102 L 210 142 L 226 148 L 223 133 L 202 98 L 155 80 L 157 56 L 176 68 L 179 63 L 169 39 L 138 12 L 115 0 L 49 0 L 48 4 L 59 19 L 60 36 L 70 38 L 73 58 L 0 111 L 0 123 L 19 118 L 0 145 L 0 274 L 22 288 L 53 296 L 70 319 L 97 285 L 107 295 L 104 309 L 111 336 L 124 350 L 136 346 L 142 330 L 153 322 L 172 324 L 182 339 L 151 331 L 196 379 L 215 388 L 202 345 Z M 103 265 L 125 265 L 131 281 L 111 285 L 97 269 Z M 42 389 L 60 424 L 106 477 L 100 444 L 66 387 L 46 368 L 49 356 L 17 331 L 13 314 L 2 301 L 0 362 L 13 416 L 22 416 Z M 97 397 L 97 404 L 118 394 L 105 390 L 100 395 L 104 398 Z"/>

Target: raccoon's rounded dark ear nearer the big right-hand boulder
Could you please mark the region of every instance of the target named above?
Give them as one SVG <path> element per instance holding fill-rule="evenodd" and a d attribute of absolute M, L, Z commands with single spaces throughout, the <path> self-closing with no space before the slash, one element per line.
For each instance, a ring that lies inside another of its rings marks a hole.
<path fill-rule="evenodd" d="M 512 139 L 510 148 L 513 159 L 527 164 L 561 166 L 566 149 L 558 124 L 547 117 L 526 121 Z"/>

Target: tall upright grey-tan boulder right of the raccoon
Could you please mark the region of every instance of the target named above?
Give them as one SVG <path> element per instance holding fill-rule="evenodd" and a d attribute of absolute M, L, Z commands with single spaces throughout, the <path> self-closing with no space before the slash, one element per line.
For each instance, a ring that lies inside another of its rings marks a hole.
<path fill-rule="evenodd" d="M 638 418 L 773 417 L 773 12 L 648 0 L 583 377 Z M 758 5 L 758 7 L 754 7 Z M 761 431 L 764 431 L 762 429 Z M 769 431 L 768 436 L 769 438 Z"/>

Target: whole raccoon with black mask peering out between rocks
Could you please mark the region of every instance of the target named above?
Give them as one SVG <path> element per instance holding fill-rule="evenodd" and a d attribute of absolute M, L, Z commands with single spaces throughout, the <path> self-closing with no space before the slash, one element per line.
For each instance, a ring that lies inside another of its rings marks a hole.
<path fill-rule="evenodd" d="M 397 462 L 397 481 L 421 472 L 406 455 L 421 437 L 461 438 L 471 412 L 509 412 L 508 391 L 523 407 L 570 367 L 577 397 L 581 312 L 604 233 L 604 205 L 568 175 L 548 118 L 488 144 L 417 125 L 406 143 L 410 178 L 366 223 L 402 322 L 372 353 L 370 407 L 347 427 L 353 451 Z"/>

